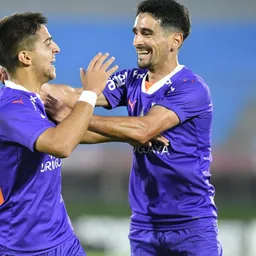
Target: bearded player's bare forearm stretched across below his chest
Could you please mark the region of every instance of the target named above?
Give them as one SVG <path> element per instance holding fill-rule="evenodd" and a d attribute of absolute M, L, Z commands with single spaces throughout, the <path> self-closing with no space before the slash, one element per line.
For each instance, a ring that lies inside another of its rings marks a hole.
<path fill-rule="evenodd" d="M 139 144 L 148 142 L 155 135 L 147 127 L 145 117 L 93 116 L 88 129 L 104 136 Z"/>

